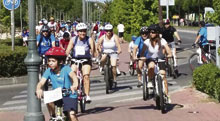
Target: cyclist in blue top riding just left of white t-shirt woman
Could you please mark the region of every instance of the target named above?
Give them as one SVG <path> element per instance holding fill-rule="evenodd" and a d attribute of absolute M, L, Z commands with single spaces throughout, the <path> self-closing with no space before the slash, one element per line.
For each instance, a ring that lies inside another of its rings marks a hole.
<path fill-rule="evenodd" d="M 146 47 L 144 45 L 144 41 L 148 38 L 149 35 L 149 31 L 148 28 L 146 26 L 141 27 L 140 30 L 140 34 L 141 36 L 138 37 L 135 42 L 134 42 L 134 47 L 133 47 L 133 60 L 138 60 L 138 68 L 137 68 L 137 74 L 138 74 L 138 85 L 137 87 L 141 87 L 142 85 L 142 81 L 141 81 L 141 70 L 144 66 L 144 62 L 146 61 Z M 137 51 L 138 51 L 138 55 L 137 55 Z"/>

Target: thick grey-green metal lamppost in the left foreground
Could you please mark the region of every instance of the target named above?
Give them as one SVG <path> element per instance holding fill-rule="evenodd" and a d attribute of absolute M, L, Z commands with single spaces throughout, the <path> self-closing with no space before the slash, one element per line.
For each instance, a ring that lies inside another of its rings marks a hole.
<path fill-rule="evenodd" d="M 28 72 L 28 97 L 27 112 L 24 115 L 24 121 L 45 121 L 44 115 L 41 111 L 41 101 L 35 96 L 35 89 L 39 80 L 39 65 L 41 62 L 36 46 L 35 14 L 35 0 L 28 0 L 30 36 L 28 38 L 28 53 L 24 60 Z"/>

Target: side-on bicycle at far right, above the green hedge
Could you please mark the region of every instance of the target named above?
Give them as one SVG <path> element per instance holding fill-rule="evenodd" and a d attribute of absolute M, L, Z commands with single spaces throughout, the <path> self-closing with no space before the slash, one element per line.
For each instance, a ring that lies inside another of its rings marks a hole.
<path fill-rule="evenodd" d="M 193 53 L 188 60 L 189 67 L 192 71 L 199 67 L 202 64 L 208 64 L 208 63 L 213 63 L 215 64 L 216 62 L 216 57 L 214 54 L 210 52 L 210 45 L 209 45 L 209 50 L 208 53 L 204 51 L 204 49 L 201 47 L 201 45 L 198 43 L 197 46 L 193 45 L 193 48 L 197 47 L 198 49 L 196 50 L 195 53 Z M 200 56 L 201 53 L 201 56 Z"/>

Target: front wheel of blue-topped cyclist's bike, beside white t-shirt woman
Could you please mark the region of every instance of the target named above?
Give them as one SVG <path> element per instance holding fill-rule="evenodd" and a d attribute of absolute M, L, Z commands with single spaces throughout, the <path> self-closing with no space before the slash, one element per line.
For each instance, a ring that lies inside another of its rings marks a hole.
<path fill-rule="evenodd" d="M 146 101 L 149 98 L 149 90 L 147 87 L 148 78 L 146 76 L 146 71 L 142 71 L 142 82 L 143 82 L 143 99 Z"/>

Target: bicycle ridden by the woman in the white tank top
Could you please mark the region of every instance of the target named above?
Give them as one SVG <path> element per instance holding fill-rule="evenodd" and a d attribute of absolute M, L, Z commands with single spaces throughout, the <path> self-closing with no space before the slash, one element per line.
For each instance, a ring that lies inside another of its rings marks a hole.
<path fill-rule="evenodd" d="M 104 80 L 106 83 L 106 94 L 109 94 L 109 91 L 112 89 L 113 86 L 113 73 L 112 73 L 112 66 L 110 61 L 110 54 L 117 54 L 117 52 L 103 52 L 106 54 L 106 63 L 104 65 Z"/>

